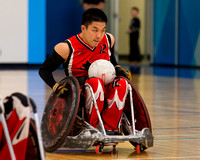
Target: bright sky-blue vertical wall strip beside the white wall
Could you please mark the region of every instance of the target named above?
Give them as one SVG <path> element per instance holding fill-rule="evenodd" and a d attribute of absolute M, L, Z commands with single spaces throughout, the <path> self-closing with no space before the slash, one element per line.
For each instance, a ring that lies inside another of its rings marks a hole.
<path fill-rule="evenodd" d="M 40 64 L 46 57 L 46 0 L 29 0 L 28 63 Z"/>

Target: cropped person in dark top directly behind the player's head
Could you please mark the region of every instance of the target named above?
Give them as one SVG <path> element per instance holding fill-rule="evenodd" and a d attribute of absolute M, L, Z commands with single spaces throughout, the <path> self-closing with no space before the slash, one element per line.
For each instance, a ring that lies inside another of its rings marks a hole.
<path fill-rule="evenodd" d="M 86 11 L 90 8 L 105 9 L 104 0 L 83 0 L 83 10 Z"/>

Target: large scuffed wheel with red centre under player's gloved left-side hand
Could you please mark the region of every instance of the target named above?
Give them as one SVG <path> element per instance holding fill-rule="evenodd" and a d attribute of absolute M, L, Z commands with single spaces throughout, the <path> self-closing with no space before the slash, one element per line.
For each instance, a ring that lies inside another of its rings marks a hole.
<path fill-rule="evenodd" d="M 47 152 L 53 152 L 61 147 L 77 115 L 80 86 L 74 77 L 66 77 L 59 83 L 66 82 L 69 94 L 65 98 L 58 98 L 55 93 L 52 93 L 43 113 L 41 130 L 44 149 Z"/>

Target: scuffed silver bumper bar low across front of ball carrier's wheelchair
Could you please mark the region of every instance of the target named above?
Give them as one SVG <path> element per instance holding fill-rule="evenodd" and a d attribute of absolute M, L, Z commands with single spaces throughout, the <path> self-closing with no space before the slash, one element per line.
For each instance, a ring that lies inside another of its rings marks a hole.
<path fill-rule="evenodd" d="M 103 143 L 104 145 L 118 144 L 119 142 L 132 141 L 146 148 L 153 146 L 153 135 L 149 128 L 137 131 L 135 135 L 103 135 L 97 129 L 85 129 L 77 136 L 67 136 L 62 147 L 87 149 Z"/>

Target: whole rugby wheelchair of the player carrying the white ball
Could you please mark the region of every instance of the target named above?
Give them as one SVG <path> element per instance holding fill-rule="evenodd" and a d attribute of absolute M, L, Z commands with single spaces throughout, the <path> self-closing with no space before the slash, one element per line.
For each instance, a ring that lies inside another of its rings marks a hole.
<path fill-rule="evenodd" d="M 106 135 L 93 94 L 99 126 L 94 128 L 85 121 L 84 98 L 81 96 L 79 82 L 76 78 L 69 76 L 59 83 L 66 84 L 69 93 L 65 98 L 58 98 L 55 93 L 52 93 L 45 106 L 41 130 L 44 148 L 47 152 L 54 152 L 58 148 L 88 149 L 96 146 L 96 153 L 101 154 L 104 146 L 113 146 L 115 150 L 118 143 L 125 141 L 129 141 L 137 153 L 153 146 L 154 138 L 147 108 L 130 81 L 128 81 L 129 94 L 126 98 L 120 127 L 120 133 L 123 135 Z M 93 93 L 92 88 L 90 91 Z"/>

